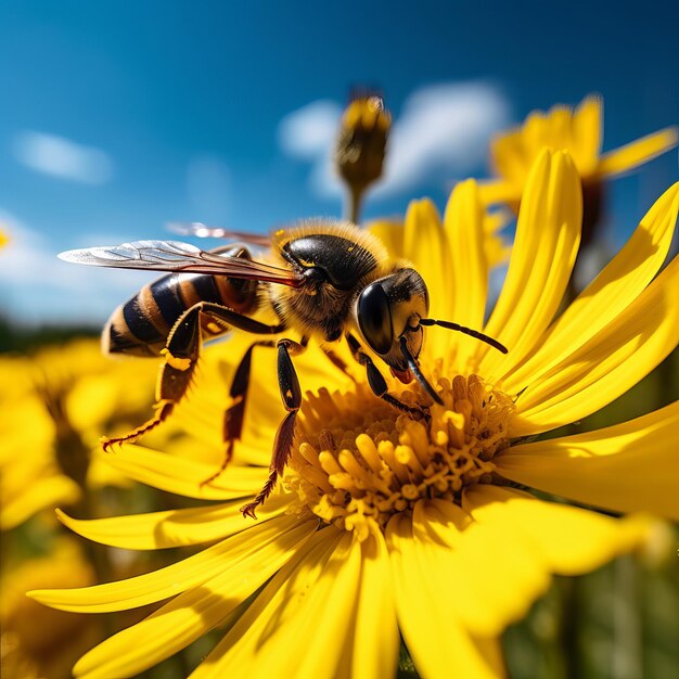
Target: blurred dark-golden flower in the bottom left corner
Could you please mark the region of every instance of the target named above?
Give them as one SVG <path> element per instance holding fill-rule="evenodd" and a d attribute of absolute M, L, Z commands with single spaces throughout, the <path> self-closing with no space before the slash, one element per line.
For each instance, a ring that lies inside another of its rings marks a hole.
<path fill-rule="evenodd" d="M 8 564 L 3 563 L 7 568 Z M 97 622 L 50 611 L 26 598 L 36 587 L 86 587 L 95 581 L 73 540 L 56 542 L 49 556 L 31 559 L 2 574 L 0 646 L 3 679 L 61 679 L 102 637 Z"/>

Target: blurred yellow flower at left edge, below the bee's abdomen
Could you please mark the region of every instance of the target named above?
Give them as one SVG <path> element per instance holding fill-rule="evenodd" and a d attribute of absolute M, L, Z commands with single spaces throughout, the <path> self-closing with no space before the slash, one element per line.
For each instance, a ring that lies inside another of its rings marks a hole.
<path fill-rule="evenodd" d="M 106 464 L 90 467 L 103 432 L 125 431 L 148 408 L 157 367 L 111 361 L 99 341 L 79 340 L 36 357 L 3 357 L 0 380 L 0 527 L 72 505 L 86 483 L 124 483 Z"/>

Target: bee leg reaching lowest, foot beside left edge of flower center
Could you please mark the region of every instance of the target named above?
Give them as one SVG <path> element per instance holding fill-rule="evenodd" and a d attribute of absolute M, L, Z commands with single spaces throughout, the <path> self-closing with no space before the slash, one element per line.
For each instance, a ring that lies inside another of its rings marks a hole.
<path fill-rule="evenodd" d="M 273 441 L 273 452 L 271 454 L 271 464 L 269 465 L 269 478 L 265 483 L 261 491 L 253 502 L 241 508 L 243 516 L 256 518 L 255 510 L 269 497 L 278 477 L 285 470 L 285 464 L 290 458 L 293 445 L 293 435 L 295 433 L 295 419 L 302 407 L 302 389 L 299 388 L 299 380 L 295 372 L 291 359 L 293 355 L 300 354 L 306 348 L 307 340 L 303 338 L 300 343 L 292 340 L 280 340 L 278 346 L 278 383 L 281 390 L 283 406 L 287 410 L 287 414 L 281 422 L 276 433 Z"/>

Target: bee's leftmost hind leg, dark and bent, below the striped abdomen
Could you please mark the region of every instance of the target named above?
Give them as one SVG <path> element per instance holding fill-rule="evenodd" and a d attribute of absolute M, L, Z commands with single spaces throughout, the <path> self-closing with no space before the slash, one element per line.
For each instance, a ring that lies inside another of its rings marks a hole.
<path fill-rule="evenodd" d="M 129 432 L 125 436 L 102 439 L 106 452 L 115 444 L 133 441 L 167 420 L 175 406 L 184 396 L 195 372 L 195 364 L 201 349 L 200 305 L 188 309 L 175 323 L 162 354 L 165 362 L 156 386 L 156 412 L 153 418 Z"/>

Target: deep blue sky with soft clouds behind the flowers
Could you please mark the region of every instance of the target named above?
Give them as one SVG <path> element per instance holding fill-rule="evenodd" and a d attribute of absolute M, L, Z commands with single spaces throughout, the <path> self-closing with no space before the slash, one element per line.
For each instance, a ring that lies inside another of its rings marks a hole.
<path fill-rule="evenodd" d="M 677 25 L 670 2 L 0 0 L 0 221 L 14 241 L 0 311 L 99 323 L 148 280 L 69 267 L 61 249 L 167 238 L 168 220 L 266 231 L 340 215 L 322 161 L 357 85 L 384 92 L 408 168 L 368 216 L 443 205 L 456 179 L 485 175 L 492 131 L 533 108 L 600 92 L 604 149 L 675 125 Z M 464 106 L 439 138 L 415 133 Z M 676 179 L 672 152 L 618 180 L 611 238 Z"/>

